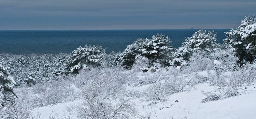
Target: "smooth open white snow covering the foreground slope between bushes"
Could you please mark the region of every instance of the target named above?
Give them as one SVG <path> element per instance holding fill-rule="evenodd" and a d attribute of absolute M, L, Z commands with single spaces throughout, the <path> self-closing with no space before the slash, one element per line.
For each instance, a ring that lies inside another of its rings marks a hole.
<path fill-rule="evenodd" d="M 148 85 L 129 87 L 134 90 L 143 90 Z M 144 101 L 142 98 L 133 99 L 137 104 L 139 114 L 150 116 L 150 119 L 255 119 L 256 116 L 256 86 L 248 87 L 247 94 L 230 97 L 223 100 L 201 103 L 203 91 L 213 91 L 214 87 L 208 83 L 195 85 L 190 91 L 179 92 L 168 97 L 168 101 Z M 59 103 L 45 107 L 35 108 L 33 115 L 41 114 L 41 119 L 67 117 L 67 107 L 77 105 L 81 100 Z M 74 113 L 74 112 L 73 112 Z M 76 119 L 75 113 L 72 119 Z"/>

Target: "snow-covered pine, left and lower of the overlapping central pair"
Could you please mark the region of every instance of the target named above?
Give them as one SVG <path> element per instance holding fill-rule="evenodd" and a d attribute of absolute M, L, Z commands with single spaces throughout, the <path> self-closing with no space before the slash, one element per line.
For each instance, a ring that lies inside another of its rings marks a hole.
<path fill-rule="evenodd" d="M 118 61 L 125 68 L 131 68 L 135 63 L 136 56 L 140 55 L 144 45 L 144 39 L 137 39 L 131 45 L 128 45 L 123 53 L 119 55 Z"/>

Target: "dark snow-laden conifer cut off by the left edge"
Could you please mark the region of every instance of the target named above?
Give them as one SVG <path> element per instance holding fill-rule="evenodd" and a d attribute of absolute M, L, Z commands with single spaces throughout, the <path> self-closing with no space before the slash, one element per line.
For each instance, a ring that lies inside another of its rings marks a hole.
<path fill-rule="evenodd" d="M 6 103 L 13 104 L 13 96 L 16 96 L 13 91 L 15 85 L 16 83 L 11 77 L 10 72 L 0 61 L 0 96 L 3 96 L 1 105 L 5 105 Z"/>

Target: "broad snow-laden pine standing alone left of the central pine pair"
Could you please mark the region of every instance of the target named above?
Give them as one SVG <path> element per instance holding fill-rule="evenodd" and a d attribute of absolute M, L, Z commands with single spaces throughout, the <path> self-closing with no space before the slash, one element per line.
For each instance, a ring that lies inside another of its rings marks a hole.
<path fill-rule="evenodd" d="M 84 65 L 100 66 L 103 62 L 105 49 L 101 46 L 85 45 L 79 47 L 71 53 L 69 64 L 67 66 L 68 73 L 78 73 Z"/>

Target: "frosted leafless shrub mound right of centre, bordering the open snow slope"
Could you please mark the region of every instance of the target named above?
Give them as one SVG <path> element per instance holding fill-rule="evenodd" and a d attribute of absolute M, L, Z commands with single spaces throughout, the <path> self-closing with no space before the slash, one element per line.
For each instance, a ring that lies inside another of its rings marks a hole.
<path fill-rule="evenodd" d="M 188 75 L 173 70 L 161 73 L 155 80 L 149 88 L 143 91 L 147 100 L 166 101 L 168 96 L 189 90 L 195 84 Z"/>

